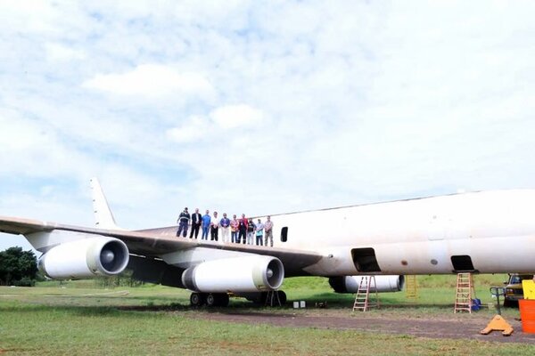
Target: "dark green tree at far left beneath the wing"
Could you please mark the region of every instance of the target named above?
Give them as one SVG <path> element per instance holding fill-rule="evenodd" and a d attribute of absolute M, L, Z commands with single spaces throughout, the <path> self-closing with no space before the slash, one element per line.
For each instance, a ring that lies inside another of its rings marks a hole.
<path fill-rule="evenodd" d="M 33 251 L 10 247 L 0 252 L 0 285 L 33 286 L 37 276 L 37 258 Z"/>

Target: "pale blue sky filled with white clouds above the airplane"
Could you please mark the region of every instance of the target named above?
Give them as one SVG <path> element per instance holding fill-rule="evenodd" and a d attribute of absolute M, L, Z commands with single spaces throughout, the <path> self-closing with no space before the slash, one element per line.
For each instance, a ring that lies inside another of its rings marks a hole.
<path fill-rule="evenodd" d="M 535 188 L 531 1 L 0 2 L 0 215 Z M 328 223 L 328 222 L 325 222 Z M 29 248 L 0 234 L 0 250 Z"/>

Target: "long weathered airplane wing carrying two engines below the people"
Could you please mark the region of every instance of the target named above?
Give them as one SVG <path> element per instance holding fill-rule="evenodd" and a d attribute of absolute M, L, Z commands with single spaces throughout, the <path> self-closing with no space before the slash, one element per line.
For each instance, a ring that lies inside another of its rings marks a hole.
<path fill-rule="evenodd" d="M 59 223 L 42 222 L 38 220 L 22 219 L 18 217 L 0 216 L 0 232 L 24 235 L 29 239 L 39 233 L 52 232 L 72 232 L 73 234 L 83 234 L 91 236 L 103 236 L 123 241 L 128 247 L 131 255 L 142 256 L 148 259 L 160 259 L 162 255 L 167 255 L 179 251 L 193 250 L 195 248 L 213 249 L 220 251 L 234 251 L 243 254 L 266 255 L 278 258 L 284 265 L 285 275 L 287 277 L 309 275 L 303 271 L 307 266 L 317 263 L 322 255 L 315 252 L 296 251 L 287 248 L 278 247 L 257 247 L 241 244 L 218 244 L 206 240 L 184 239 L 175 236 L 177 228 L 161 228 L 144 231 L 123 231 L 107 230 L 89 227 L 72 226 Z M 73 237 L 73 239 L 75 239 Z M 79 239 L 79 237 L 78 237 Z M 60 243 L 68 242 L 62 240 Z M 46 252 L 48 249 L 58 245 L 52 243 L 42 247 L 34 246 L 40 252 Z M 35 244 L 32 244 L 35 245 Z M 217 252 L 216 252 L 217 254 Z"/>

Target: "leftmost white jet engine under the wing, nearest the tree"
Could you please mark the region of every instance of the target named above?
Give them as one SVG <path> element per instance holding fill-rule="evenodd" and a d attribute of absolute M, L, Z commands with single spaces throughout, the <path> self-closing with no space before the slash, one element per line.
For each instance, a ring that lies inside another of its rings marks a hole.
<path fill-rule="evenodd" d="M 95 237 L 64 242 L 39 258 L 39 270 L 51 279 L 113 276 L 128 264 L 128 247 L 119 239 Z"/>

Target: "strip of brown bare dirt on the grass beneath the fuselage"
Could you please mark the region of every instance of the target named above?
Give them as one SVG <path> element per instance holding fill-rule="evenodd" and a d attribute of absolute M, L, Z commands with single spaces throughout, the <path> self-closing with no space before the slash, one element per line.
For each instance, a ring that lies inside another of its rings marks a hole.
<path fill-rule="evenodd" d="M 316 314 L 316 312 L 315 312 Z M 263 313 L 263 312 L 196 312 L 188 315 L 193 319 L 218 320 L 245 324 L 270 324 L 290 328 L 325 328 L 351 329 L 382 334 L 399 334 L 430 338 L 473 339 L 500 343 L 535 344 L 535 334 L 522 332 L 521 322 L 507 320 L 514 328 L 511 336 L 502 336 L 493 331 L 490 335 L 480 334 L 490 320 L 480 317 L 444 318 L 440 320 L 399 319 L 374 316 L 369 313 L 356 313 L 351 316 L 309 316 L 297 313 Z"/>

